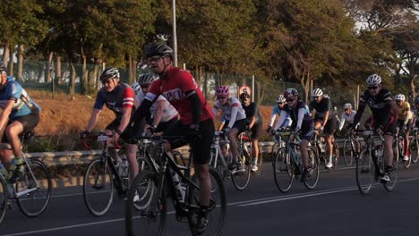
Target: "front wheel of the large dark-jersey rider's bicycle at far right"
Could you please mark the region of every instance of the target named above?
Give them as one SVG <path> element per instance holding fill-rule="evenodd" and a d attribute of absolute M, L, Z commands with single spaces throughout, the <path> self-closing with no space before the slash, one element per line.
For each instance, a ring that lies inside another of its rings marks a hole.
<path fill-rule="evenodd" d="M 356 185 L 362 194 L 367 194 L 372 188 L 375 167 L 367 149 L 363 149 L 356 161 Z"/>

